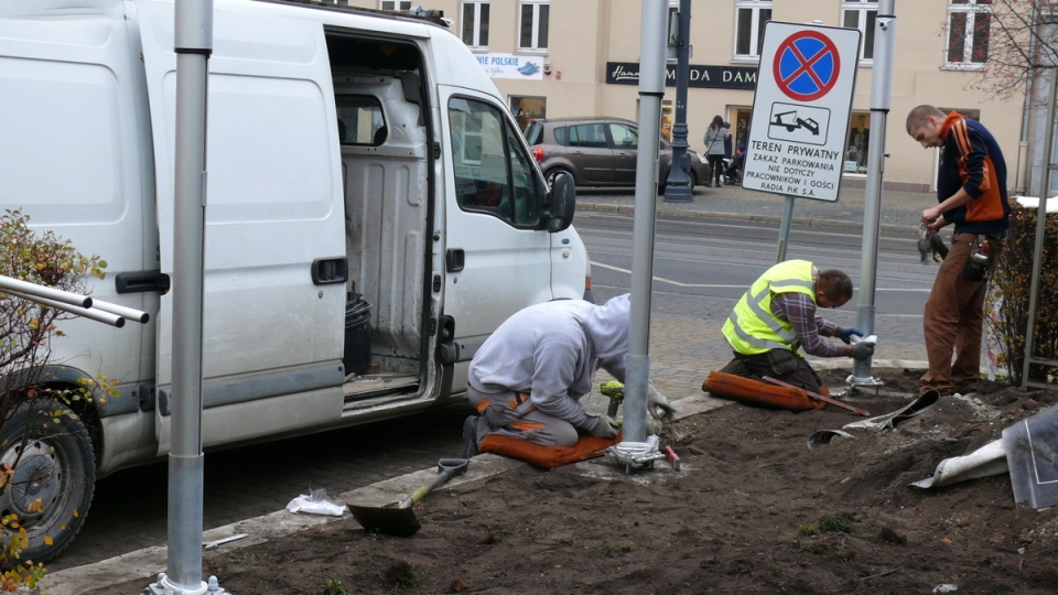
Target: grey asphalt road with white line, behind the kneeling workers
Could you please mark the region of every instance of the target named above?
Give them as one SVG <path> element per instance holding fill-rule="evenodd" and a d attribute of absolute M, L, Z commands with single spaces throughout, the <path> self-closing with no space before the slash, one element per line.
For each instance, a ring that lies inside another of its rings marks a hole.
<path fill-rule="evenodd" d="M 576 226 L 592 258 L 596 294 L 605 288 L 619 293 L 630 286 L 633 216 L 577 214 Z M 848 272 L 857 285 L 853 299 L 836 311 L 824 312 L 824 317 L 843 326 L 859 325 L 861 311 L 873 311 L 873 332 L 879 337 L 876 357 L 908 359 L 925 355 L 922 304 L 937 273 L 937 264 L 921 263 L 916 240 L 913 234 L 882 235 L 875 292 L 866 302 L 861 302 L 864 294 L 859 286 L 863 242 L 859 232 L 794 226 L 787 258 L 803 258 L 821 269 Z M 654 303 L 669 295 L 665 302 L 685 302 L 680 310 L 708 312 L 706 303 L 722 303 L 730 310 L 746 288 L 775 263 L 777 246 L 775 225 L 660 215 L 655 239 Z M 654 312 L 655 316 L 663 312 Z M 698 324 L 700 317 L 687 323 Z"/>

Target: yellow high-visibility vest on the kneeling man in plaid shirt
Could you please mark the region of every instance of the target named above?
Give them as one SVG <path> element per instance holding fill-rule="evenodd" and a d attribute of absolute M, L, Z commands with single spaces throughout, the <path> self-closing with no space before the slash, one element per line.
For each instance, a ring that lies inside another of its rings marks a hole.
<path fill-rule="evenodd" d="M 722 331 L 732 349 L 744 355 L 763 354 L 771 349 L 796 353 L 800 347 L 797 335 L 789 322 L 771 314 L 771 295 L 803 293 L 816 303 L 812 269 L 812 263 L 807 260 L 787 260 L 771 267 L 754 281 L 724 322 Z"/>

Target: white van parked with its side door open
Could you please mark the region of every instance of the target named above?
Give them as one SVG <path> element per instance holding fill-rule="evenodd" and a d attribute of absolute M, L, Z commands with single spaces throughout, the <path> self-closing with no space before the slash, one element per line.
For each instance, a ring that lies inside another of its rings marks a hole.
<path fill-rule="evenodd" d="M 53 386 L 105 375 L 120 396 L 76 411 L 90 441 L 39 441 L 31 494 L 0 491 L 34 561 L 69 544 L 97 477 L 170 448 L 173 17 L 172 0 L 0 2 L 0 208 L 104 258 L 91 294 L 151 314 L 71 321 L 52 346 Z M 209 69 L 206 448 L 451 402 L 507 316 L 584 295 L 572 182 L 549 190 L 444 28 L 217 0 Z"/>

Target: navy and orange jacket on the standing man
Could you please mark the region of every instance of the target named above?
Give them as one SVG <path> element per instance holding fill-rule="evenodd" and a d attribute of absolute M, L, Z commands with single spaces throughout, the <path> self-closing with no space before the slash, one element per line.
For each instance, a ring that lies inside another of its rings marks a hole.
<path fill-rule="evenodd" d="M 981 122 L 952 111 L 940 127 L 944 151 L 937 177 L 937 201 L 959 191 L 973 201 L 944 212 L 957 234 L 995 234 L 1010 227 L 1011 204 L 1006 196 L 1006 161 L 995 138 Z"/>

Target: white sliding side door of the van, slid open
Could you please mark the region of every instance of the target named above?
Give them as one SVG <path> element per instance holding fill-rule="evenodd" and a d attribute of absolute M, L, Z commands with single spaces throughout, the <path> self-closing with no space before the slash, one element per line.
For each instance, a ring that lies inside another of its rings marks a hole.
<path fill-rule="evenodd" d="M 173 245 L 181 241 L 173 234 L 173 4 L 136 6 L 153 126 L 161 269 L 172 274 Z M 334 91 L 322 25 L 283 18 L 284 10 L 218 2 L 214 11 L 204 446 L 317 426 L 341 414 L 345 242 Z M 160 454 L 169 451 L 172 306 L 170 293 L 162 298 L 158 338 Z"/>

